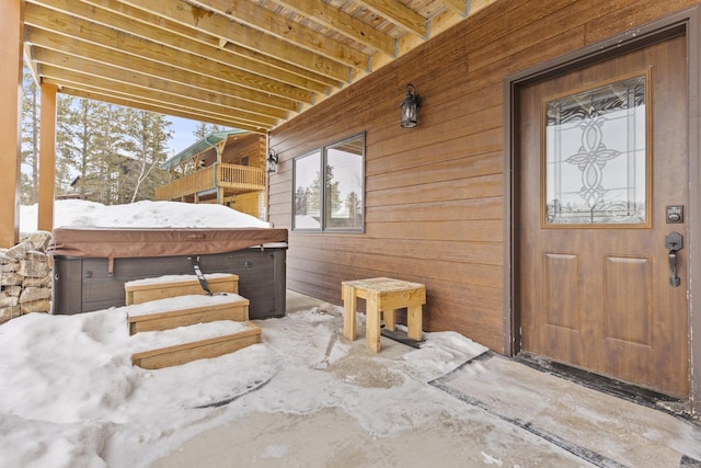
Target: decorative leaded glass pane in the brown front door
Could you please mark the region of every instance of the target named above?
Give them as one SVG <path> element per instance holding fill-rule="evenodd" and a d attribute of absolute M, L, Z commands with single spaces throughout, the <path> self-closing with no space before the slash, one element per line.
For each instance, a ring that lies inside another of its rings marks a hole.
<path fill-rule="evenodd" d="M 545 224 L 646 222 L 646 76 L 545 102 Z"/>

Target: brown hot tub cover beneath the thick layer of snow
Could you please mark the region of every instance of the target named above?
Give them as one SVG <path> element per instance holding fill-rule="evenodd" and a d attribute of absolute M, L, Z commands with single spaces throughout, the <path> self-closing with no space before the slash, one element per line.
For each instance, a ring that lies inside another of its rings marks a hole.
<path fill-rule="evenodd" d="M 287 229 L 272 228 L 95 228 L 53 231 L 55 255 L 114 259 L 223 253 L 287 242 Z"/>

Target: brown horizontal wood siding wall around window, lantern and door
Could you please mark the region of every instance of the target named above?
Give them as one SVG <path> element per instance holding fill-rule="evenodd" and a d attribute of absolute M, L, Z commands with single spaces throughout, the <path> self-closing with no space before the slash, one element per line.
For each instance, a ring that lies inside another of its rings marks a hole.
<path fill-rule="evenodd" d="M 288 229 L 292 158 L 366 132 L 366 231 L 290 231 L 288 287 L 341 304 L 344 279 L 424 283 L 425 330 L 504 352 L 505 77 L 698 3 L 497 1 L 272 132 L 269 219 Z M 410 82 L 423 106 L 404 129 Z"/>

